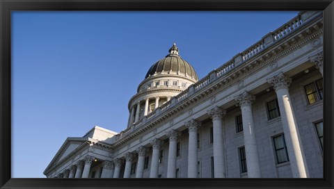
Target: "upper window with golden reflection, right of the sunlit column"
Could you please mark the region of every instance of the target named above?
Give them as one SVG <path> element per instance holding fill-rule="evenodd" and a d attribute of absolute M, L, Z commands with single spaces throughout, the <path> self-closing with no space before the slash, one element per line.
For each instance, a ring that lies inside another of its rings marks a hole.
<path fill-rule="evenodd" d="M 313 104 L 324 98 L 322 79 L 314 81 L 305 85 L 306 96 L 308 97 L 308 104 Z"/>

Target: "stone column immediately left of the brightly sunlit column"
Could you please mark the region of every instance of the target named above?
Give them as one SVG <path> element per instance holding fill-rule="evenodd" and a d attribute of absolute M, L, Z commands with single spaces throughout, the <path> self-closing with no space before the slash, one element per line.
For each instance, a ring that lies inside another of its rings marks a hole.
<path fill-rule="evenodd" d="M 252 103 L 255 97 L 247 91 L 234 97 L 241 108 L 244 145 L 247 161 L 248 178 L 261 178 L 260 161 L 257 153 Z"/>

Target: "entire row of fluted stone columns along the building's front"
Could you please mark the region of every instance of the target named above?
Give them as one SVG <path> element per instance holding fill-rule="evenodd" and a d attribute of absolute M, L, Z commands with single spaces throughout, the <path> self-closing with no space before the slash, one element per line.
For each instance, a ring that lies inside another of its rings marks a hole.
<path fill-rule="evenodd" d="M 302 144 L 299 136 L 299 129 L 296 124 L 296 118 L 294 117 L 294 110 L 292 109 L 291 101 L 289 100 L 289 85 L 291 79 L 289 79 L 283 72 L 280 72 L 276 76 L 267 79 L 276 91 L 278 98 L 278 106 L 280 109 L 280 117 L 283 125 L 283 131 L 285 134 L 285 142 L 287 151 L 289 154 L 289 163 L 292 170 L 292 176 L 294 178 L 308 177 L 308 167 L 305 163 L 304 154 L 302 150 Z M 247 161 L 247 174 L 248 178 L 260 178 L 262 177 L 260 171 L 260 159 L 257 152 L 257 144 L 255 137 L 255 128 L 253 122 L 253 110 L 252 103 L 255 101 L 255 96 L 247 91 L 241 92 L 234 97 L 237 104 L 241 108 L 242 122 L 244 127 L 244 146 L 246 151 Z M 223 138 L 223 121 L 222 118 L 226 114 L 226 110 L 214 106 L 214 108 L 207 111 L 207 114 L 211 117 L 213 123 L 213 154 L 214 154 L 214 177 L 225 178 L 225 150 L 224 150 L 224 138 Z M 187 177 L 197 178 L 197 162 L 198 162 L 198 144 L 197 144 L 197 132 L 200 127 L 200 122 L 196 120 L 189 120 L 184 123 L 189 131 L 189 154 L 188 154 L 188 172 Z M 180 132 L 170 130 L 166 133 L 169 139 L 168 149 L 168 165 L 167 165 L 167 178 L 175 178 L 176 172 L 176 156 L 177 156 L 177 139 L 180 137 Z M 150 178 L 158 177 L 159 168 L 159 150 L 161 149 L 162 141 L 155 138 L 150 142 L 152 146 L 152 156 L 150 164 Z M 148 155 L 147 147 L 138 147 L 134 152 L 127 152 L 124 157 L 116 158 L 113 162 L 104 161 L 102 163 L 102 178 L 119 178 L 120 168 L 125 159 L 125 171 L 124 178 L 129 178 L 132 168 L 132 162 L 135 157 L 135 153 L 138 154 L 138 161 L 136 165 L 136 178 L 143 177 L 145 156 Z M 61 174 L 58 174 L 58 178 L 88 178 L 90 172 L 90 165 L 93 163 L 93 156 L 86 156 L 84 161 L 79 161 L 76 165 L 70 166 L 69 170 L 65 170 Z M 75 172 L 75 174 L 74 174 Z"/>

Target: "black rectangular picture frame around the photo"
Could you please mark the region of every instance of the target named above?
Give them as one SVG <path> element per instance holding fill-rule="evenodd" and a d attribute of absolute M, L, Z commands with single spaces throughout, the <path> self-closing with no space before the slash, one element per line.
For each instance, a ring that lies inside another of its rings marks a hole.
<path fill-rule="evenodd" d="M 12 179 L 10 11 L 13 10 L 324 10 L 324 179 Z M 0 0 L 0 11 L 1 188 L 334 188 L 333 1 Z"/>

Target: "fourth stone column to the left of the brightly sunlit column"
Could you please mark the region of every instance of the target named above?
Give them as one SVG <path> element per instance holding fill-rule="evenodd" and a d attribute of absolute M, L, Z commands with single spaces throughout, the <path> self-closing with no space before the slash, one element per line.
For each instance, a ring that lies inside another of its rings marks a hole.
<path fill-rule="evenodd" d="M 177 138 L 179 138 L 180 133 L 172 130 L 167 133 L 167 136 L 169 138 L 167 178 L 175 178 Z"/>

